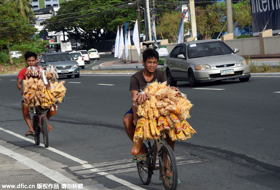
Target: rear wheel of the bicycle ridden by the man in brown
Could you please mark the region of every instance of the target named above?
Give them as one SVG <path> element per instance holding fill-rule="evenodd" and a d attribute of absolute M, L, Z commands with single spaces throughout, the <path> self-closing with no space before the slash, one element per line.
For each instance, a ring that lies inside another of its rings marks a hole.
<path fill-rule="evenodd" d="M 142 183 L 144 185 L 149 185 L 152 179 L 152 164 L 150 156 L 148 156 L 148 148 L 144 142 L 142 143 L 142 147 L 145 149 L 147 159 L 137 162 L 137 170 Z"/>

